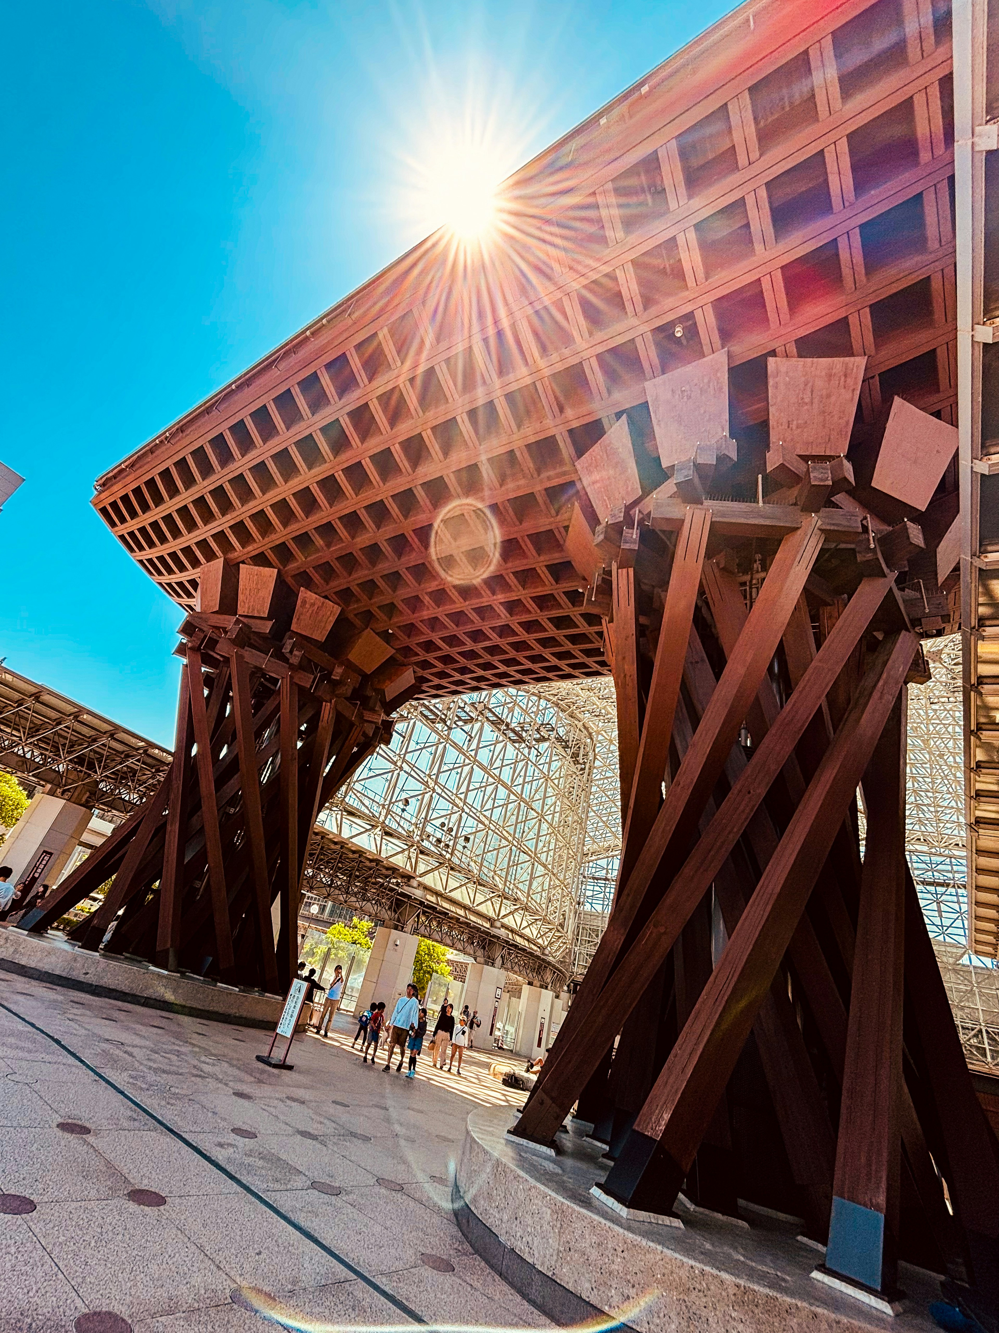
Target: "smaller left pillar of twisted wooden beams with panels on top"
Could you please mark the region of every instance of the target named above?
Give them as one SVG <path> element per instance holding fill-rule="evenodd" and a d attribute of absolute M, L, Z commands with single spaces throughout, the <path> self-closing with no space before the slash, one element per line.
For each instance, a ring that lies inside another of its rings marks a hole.
<path fill-rule="evenodd" d="M 412 669 L 276 569 L 216 561 L 180 628 L 173 761 L 156 793 L 23 922 L 41 933 L 88 894 L 85 949 L 285 990 L 316 816 L 392 736 Z"/>

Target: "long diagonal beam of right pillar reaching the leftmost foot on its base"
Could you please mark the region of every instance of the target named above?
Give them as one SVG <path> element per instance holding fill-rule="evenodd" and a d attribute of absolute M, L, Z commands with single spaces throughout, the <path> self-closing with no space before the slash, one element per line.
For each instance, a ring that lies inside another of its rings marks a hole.
<path fill-rule="evenodd" d="M 815 661 L 802 677 L 785 709 L 746 765 L 738 782 L 729 792 L 718 813 L 698 840 L 697 846 L 670 884 L 607 982 L 606 1004 L 594 1005 L 586 1024 L 577 1028 L 566 1041 L 557 1041 L 542 1068 L 550 1072 L 543 1085 L 534 1086 L 519 1121 L 517 1137 L 549 1142 L 558 1130 L 579 1089 L 593 1074 L 605 1049 L 614 1040 L 631 1008 L 638 1002 L 655 969 L 673 948 L 683 924 L 707 892 L 737 840 L 759 808 L 774 778 L 783 768 L 805 726 L 826 697 L 832 681 L 850 657 L 891 584 L 890 579 L 863 580 L 835 631 L 822 645 Z M 759 605 L 759 603 L 757 604 Z M 726 668 L 727 669 L 727 668 Z M 725 680 L 725 676 L 722 676 Z M 715 693 L 721 689 L 718 684 Z M 687 754 L 697 744 L 711 701 L 694 733 L 694 740 L 681 762 L 681 773 Z M 733 737 L 734 741 L 734 737 Z M 677 777 L 677 782 L 679 776 Z M 677 784 L 674 784 L 675 786 Z M 673 790 L 674 788 L 670 788 Z M 577 996 L 570 1013 L 579 1004 Z M 561 1033 L 559 1033 L 561 1038 Z"/>

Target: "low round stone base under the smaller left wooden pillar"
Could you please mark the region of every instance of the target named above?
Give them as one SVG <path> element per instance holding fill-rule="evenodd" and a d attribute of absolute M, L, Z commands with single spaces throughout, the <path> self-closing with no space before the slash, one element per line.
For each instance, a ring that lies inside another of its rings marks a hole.
<path fill-rule="evenodd" d="M 16 926 L 0 926 L 0 972 L 84 990 L 104 1000 L 242 1028 L 273 1028 L 284 1008 L 280 996 L 216 985 L 190 973 L 164 972 L 145 962 L 108 957 L 80 949 L 55 932 L 37 936 Z"/>

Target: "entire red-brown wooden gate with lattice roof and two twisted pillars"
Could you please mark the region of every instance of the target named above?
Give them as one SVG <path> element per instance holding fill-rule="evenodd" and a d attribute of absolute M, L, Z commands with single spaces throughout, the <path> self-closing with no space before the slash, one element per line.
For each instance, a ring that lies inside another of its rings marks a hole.
<path fill-rule="evenodd" d="M 951 71 L 947 0 L 754 0 L 101 477 L 186 612 L 176 757 L 33 929 L 113 876 L 85 946 L 123 910 L 115 949 L 281 984 L 401 698 L 610 669 L 614 908 L 513 1133 L 575 1108 L 607 1206 L 749 1200 L 995 1330 L 999 1146 L 904 860 L 959 613 Z"/>

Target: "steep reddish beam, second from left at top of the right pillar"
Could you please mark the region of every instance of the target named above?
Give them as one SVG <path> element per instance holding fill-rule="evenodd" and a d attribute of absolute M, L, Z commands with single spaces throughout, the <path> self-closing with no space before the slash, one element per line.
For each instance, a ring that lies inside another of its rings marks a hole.
<path fill-rule="evenodd" d="M 679 682 L 683 677 L 683 657 L 694 620 L 694 607 L 701 587 L 701 569 L 705 563 L 710 528 L 711 511 L 691 507 L 687 509 L 683 527 L 677 537 L 659 643 L 655 649 L 653 680 L 645 708 L 642 738 L 638 745 L 631 782 L 631 796 L 626 805 L 627 814 L 621 840 L 621 866 L 618 870 L 621 884 L 627 882 L 662 805 L 662 780 L 670 752 L 673 714 L 679 696 Z M 615 664 L 618 661 L 617 653 L 614 661 Z"/>

